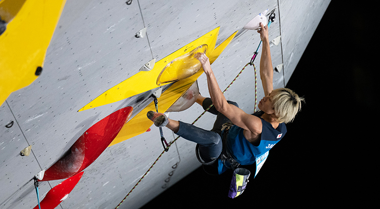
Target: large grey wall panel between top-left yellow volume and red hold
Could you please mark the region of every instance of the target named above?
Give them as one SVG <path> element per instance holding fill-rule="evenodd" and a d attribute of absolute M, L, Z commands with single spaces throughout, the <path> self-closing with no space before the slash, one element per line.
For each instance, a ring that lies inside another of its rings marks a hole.
<path fill-rule="evenodd" d="M 91 1 L 77 6 L 65 5 L 41 76 L 8 99 L 25 136 L 43 153 L 43 168 L 118 106 L 76 111 L 138 72 L 145 64 L 139 57 L 151 56 L 147 39 L 134 37 L 143 28 L 138 5 Z"/>

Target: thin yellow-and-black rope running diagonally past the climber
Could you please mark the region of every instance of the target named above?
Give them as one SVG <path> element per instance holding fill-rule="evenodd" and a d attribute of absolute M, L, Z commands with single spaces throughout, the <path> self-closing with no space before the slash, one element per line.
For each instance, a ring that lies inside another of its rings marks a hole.
<path fill-rule="evenodd" d="M 242 72 L 246 69 L 246 67 L 248 65 L 250 65 L 251 63 L 247 63 L 246 66 L 244 66 L 244 68 L 242 70 L 240 70 L 240 72 L 238 73 L 238 75 L 233 79 L 233 81 L 228 85 L 228 87 L 223 91 L 223 94 L 228 90 L 229 87 L 231 87 L 231 85 L 236 81 L 236 79 L 240 76 L 240 74 L 242 74 Z M 256 112 L 256 103 L 257 103 L 257 74 L 256 74 L 256 66 L 254 64 L 253 65 L 253 68 L 255 70 L 255 112 Z M 213 106 L 213 104 L 209 105 L 209 107 L 206 108 L 206 110 L 197 118 L 195 119 L 194 122 L 191 123 L 191 125 L 193 125 L 195 122 L 197 122 L 211 107 Z M 132 190 L 130 192 L 128 192 L 128 194 L 124 197 L 124 199 L 119 203 L 119 205 L 116 206 L 115 209 L 119 208 L 120 205 L 127 199 L 127 197 L 131 194 L 131 192 L 137 187 L 137 185 L 145 178 L 145 176 L 151 171 L 151 169 L 153 168 L 153 166 L 156 164 L 156 162 L 160 159 L 160 157 L 165 153 L 167 152 L 166 150 L 169 149 L 169 147 L 177 140 L 179 139 L 180 137 L 178 136 L 177 138 L 175 138 L 173 141 L 171 141 L 169 143 L 169 145 L 167 145 L 166 149 L 164 151 L 162 151 L 161 155 L 157 157 L 157 159 L 153 162 L 152 166 L 148 169 L 147 172 L 145 172 L 145 174 L 140 178 L 140 180 L 134 185 L 134 187 L 132 188 Z"/>

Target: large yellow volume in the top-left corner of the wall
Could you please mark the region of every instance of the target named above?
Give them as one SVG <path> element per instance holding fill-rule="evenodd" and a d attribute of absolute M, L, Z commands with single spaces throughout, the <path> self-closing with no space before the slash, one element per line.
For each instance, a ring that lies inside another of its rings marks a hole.
<path fill-rule="evenodd" d="M 66 0 L 0 1 L 0 104 L 41 73 L 65 3 Z"/>

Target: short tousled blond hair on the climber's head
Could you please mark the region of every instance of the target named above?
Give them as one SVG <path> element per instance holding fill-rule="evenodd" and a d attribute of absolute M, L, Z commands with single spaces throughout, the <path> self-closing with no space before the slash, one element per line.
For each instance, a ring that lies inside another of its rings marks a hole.
<path fill-rule="evenodd" d="M 275 115 L 278 122 L 293 122 L 294 117 L 301 110 L 301 102 L 304 98 L 299 97 L 294 91 L 289 88 L 274 89 L 271 94 L 273 95 L 273 104 Z"/>

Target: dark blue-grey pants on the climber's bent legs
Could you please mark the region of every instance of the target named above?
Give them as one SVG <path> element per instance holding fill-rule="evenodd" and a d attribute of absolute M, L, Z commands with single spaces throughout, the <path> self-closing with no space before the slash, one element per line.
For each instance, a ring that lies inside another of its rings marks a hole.
<path fill-rule="evenodd" d="M 228 101 L 228 103 L 239 107 L 235 102 Z M 206 98 L 202 104 L 203 109 L 206 110 L 210 104 L 212 104 L 211 99 Z M 184 139 L 199 144 L 199 155 L 205 162 L 210 162 L 221 154 L 223 148 L 221 129 L 224 123 L 229 122 L 229 119 L 218 112 L 214 106 L 208 112 L 216 115 L 214 126 L 210 131 L 180 121 L 179 130 L 175 133 Z"/>

